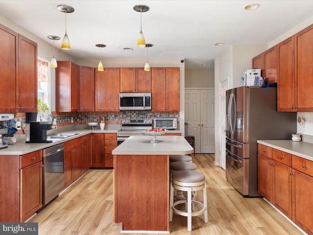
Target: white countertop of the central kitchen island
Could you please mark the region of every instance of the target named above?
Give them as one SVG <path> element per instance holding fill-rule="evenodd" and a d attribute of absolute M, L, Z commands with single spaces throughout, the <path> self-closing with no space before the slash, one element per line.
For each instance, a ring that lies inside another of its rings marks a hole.
<path fill-rule="evenodd" d="M 192 154 L 193 147 L 183 136 L 131 136 L 113 149 L 113 155 L 174 155 Z"/>

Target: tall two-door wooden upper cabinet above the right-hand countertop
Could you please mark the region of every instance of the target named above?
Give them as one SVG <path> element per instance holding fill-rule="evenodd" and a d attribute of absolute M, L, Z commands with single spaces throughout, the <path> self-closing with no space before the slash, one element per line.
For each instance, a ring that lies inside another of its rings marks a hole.
<path fill-rule="evenodd" d="M 313 112 L 313 24 L 277 48 L 277 110 Z"/>

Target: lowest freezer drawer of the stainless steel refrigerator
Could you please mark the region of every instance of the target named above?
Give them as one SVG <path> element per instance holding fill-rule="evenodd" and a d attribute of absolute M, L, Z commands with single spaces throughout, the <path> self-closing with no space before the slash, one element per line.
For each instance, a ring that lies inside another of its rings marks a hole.
<path fill-rule="evenodd" d="M 249 159 L 240 158 L 226 149 L 226 179 L 241 194 L 249 194 Z"/>

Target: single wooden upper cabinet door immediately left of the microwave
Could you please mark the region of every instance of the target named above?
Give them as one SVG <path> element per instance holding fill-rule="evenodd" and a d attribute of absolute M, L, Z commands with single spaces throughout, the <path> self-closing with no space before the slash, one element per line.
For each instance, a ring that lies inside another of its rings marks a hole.
<path fill-rule="evenodd" d="M 119 111 L 119 70 L 95 70 L 95 111 Z"/>

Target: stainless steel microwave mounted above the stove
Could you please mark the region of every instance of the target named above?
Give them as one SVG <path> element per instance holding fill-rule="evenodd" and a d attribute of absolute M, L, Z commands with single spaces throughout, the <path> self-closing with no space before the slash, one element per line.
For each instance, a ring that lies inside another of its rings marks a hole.
<path fill-rule="evenodd" d="M 151 110 L 151 93 L 120 93 L 119 110 Z"/>

